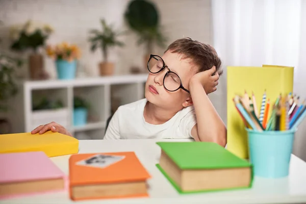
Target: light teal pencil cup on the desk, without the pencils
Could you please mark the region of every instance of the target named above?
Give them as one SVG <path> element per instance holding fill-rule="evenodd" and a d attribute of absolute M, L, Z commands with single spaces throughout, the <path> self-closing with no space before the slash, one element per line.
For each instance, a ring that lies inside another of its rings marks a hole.
<path fill-rule="evenodd" d="M 253 165 L 254 175 L 266 178 L 288 176 L 296 130 L 246 131 L 249 159 Z"/>

